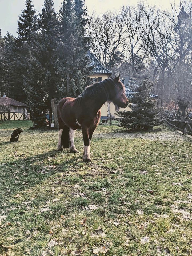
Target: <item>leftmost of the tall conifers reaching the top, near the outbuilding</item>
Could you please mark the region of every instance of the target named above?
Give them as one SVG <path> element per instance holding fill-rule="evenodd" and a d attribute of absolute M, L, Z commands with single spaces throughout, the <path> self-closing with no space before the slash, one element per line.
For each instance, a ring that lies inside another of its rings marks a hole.
<path fill-rule="evenodd" d="M 31 40 L 37 30 L 37 15 L 35 13 L 32 0 L 26 0 L 25 9 L 18 20 L 18 38 L 15 39 L 15 45 L 11 49 L 14 59 L 7 67 L 7 83 L 11 87 L 10 97 L 21 102 L 26 101 L 23 77 L 27 74 L 28 63 L 31 59 Z"/>

